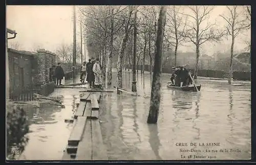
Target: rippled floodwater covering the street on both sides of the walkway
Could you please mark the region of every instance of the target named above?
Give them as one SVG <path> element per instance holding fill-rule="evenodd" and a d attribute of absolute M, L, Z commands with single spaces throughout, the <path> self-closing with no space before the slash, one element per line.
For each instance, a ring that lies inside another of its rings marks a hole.
<path fill-rule="evenodd" d="M 250 84 L 199 78 L 201 91 L 185 92 L 167 89 L 169 75 L 162 74 L 158 122 L 147 124 L 152 79 L 147 72 L 136 78 L 138 97 L 103 94 L 100 125 L 110 160 L 250 159 Z M 132 73 L 124 71 L 123 88 L 131 90 L 131 82 Z M 65 108 L 49 105 L 29 112 L 30 140 L 20 159 L 61 159 L 73 126 L 64 120 L 76 111 L 80 90 L 55 89 L 50 97 L 60 98 Z"/>

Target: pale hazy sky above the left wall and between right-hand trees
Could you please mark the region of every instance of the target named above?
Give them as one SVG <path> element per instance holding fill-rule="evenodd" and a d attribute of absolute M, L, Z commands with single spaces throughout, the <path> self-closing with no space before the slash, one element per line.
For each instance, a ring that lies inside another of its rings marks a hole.
<path fill-rule="evenodd" d="M 6 23 L 7 28 L 16 31 L 15 39 L 8 40 L 17 42 L 20 49 L 33 51 L 36 47 L 56 52 L 61 43 L 73 43 L 73 21 L 72 6 L 7 6 Z M 78 19 L 78 7 L 76 7 Z M 186 11 L 186 10 L 185 10 Z M 211 12 L 210 20 L 217 19 L 221 26 L 225 21 L 219 17 L 219 14 L 226 12 L 225 6 L 215 6 Z M 80 26 L 77 21 L 77 43 L 80 40 Z M 235 50 L 243 50 L 246 46 L 244 40 L 250 34 L 240 35 L 235 42 Z M 224 39 L 219 44 L 205 43 L 201 52 L 211 56 L 216 51 L 230 51 L 230 39 Z M 179 51 L 195 51 L 195 46 L 186 44 L 180 46 Z"/>

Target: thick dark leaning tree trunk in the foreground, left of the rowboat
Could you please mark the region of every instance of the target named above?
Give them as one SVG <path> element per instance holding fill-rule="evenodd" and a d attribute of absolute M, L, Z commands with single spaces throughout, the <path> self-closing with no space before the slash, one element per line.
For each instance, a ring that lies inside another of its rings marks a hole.
<path fill-rule="evenodd" d="M 166 21 L 166 6 L 161 6 L 156 40 L 155 65 L 152 80 L 150 112 L 147 117 L 147 123 L 157 123 L 160 98 L 161 98 L 161 60 L 162 60 L 162 44 L 164 35 L 164 26 Z"/>

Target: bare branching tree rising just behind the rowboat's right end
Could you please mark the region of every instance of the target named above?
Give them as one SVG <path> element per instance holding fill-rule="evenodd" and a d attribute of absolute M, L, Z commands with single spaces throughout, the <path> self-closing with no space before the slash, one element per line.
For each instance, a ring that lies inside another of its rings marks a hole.
<path fill-rule="evenodd" d="M 216 33 L 214 30 L 215 23 L 210 24 L 208 20 L 206 26 L 202 27 L 202 23 L 207 18 L 209 18 L 209 13 L 214 8 L 210 8 L 208 6 L 193 6 L 188 8 L 190 9 L 191 14 L 182 14 L 191 18 L 191 21 L 188 20 L 188 29 L 186 32 L 182 34 L 182 36 L 188 39 L 189 42 L 192 42 L 196 46 L 196 66 L 194 78 L 197 79 L 200 46 L 206 41 L 219 40 L 222 34 Z"/>

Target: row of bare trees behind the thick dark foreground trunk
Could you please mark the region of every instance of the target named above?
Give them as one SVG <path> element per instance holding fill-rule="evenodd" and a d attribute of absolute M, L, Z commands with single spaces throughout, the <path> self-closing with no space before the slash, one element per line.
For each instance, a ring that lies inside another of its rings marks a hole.
<path fill-rule="evenodd" d="M 226 21 L 225 29 L 209 20 L 214 10 L 212 6 L 168 6 L 163 39 L 162 65 L 177 65 L 177 51 L 180 45 L 188 42 L 196 48 L 195 78 L 197 78 L 200 48 L 211 41 L 218 42 L 223 36 L 231 36 L 230 44 L 241 31 L 250 26 L 250 7 L 227 6 L 228 13 L 219 16 Z M 86 6 L 79 7 L 80 19 L 86 34 L 90 54 L 100 58 L 103 67 L 102 75 L 111 84 L 112 64 L 117 63 L 118 84 L 121 87 L 122 68 L 132 64 L 134 49 L 134 22 L 136 21 L 136 61 L 147 63 L 153 68 L 156 53 L 157 6 Z M 248 41 L 247 41 L 248 42 Z M 233 46 L 230 46 L 233 49 Z M 230 68 L 233 52 L 230 51 Z M 175 58 L 171 59 L 170 54 Z M 90 56 L 90 55 L 89 55 Z M 92 56 L 92 55 L 91 55 Z M 152 71 L 152 70 L 150 70 Z M 230 69 L 230 77 L 232 77 Z M 231 79 L 231 78 L 230 78 Z"/>

